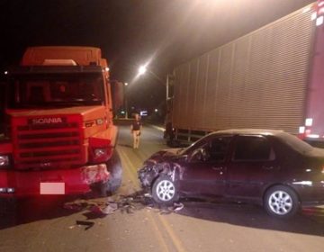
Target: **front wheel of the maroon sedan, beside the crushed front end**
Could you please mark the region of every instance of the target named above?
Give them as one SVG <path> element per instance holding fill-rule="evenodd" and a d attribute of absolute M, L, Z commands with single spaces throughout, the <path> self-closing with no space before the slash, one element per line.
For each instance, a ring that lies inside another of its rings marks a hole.
<path fill-rule="evenodd" d="M 168 175 L 159 175 L 152 186 L 152 197 L 162 205 L 172 205 L 179 199 L 177 186 Z"/>

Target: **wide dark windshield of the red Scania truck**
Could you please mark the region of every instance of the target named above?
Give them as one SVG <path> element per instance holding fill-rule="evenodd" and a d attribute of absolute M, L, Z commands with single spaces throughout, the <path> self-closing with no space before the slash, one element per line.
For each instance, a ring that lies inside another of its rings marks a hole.
<path fill-rule="evenodd" d="M 10 81 L 11 108 L 102 105 L 98 73 L 17 75 Z"/>

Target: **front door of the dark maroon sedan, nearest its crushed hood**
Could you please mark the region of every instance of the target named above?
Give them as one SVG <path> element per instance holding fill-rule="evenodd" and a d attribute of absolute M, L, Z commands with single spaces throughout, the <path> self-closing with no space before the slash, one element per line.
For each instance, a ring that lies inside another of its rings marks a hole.
<path fill-rule="evenodd" d="M 185 193 L 222 195 L 225 193 L 228 152 L 231 137 L 208 139 L 193 149 L 184 164 L 180 188 Z"/>

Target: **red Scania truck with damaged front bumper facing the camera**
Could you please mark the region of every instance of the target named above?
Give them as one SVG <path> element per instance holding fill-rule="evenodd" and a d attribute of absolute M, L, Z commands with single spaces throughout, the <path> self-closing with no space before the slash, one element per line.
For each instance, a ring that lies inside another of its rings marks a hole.
<path fill-rule="evenodd" d="M 3 87 L 0 197 L 117 190 L 121 162 L 101 49 L 28 48 Z"/>

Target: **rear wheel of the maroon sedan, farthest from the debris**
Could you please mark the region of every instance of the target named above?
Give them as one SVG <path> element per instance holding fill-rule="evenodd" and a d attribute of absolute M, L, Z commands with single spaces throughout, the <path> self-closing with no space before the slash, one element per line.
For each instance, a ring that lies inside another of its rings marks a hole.
<path fill-rule="evenodd" d="M 284 219 L 296 214 L 300 202 L 292 188 L 275 185 L 266 191 L 264 206 L 269 215 Z"/>

